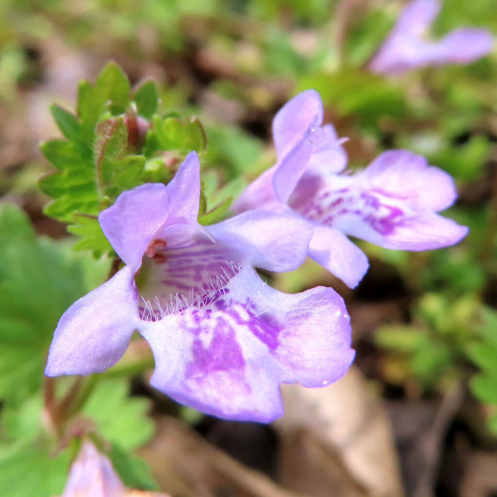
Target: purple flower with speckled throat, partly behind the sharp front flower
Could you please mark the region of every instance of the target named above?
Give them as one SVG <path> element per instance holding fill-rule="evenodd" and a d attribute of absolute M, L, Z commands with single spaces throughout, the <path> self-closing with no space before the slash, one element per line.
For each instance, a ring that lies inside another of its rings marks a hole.
<path fill-rule="evenodd" d="M 368 268 L 365 254 L 345 235 L 385 248 L 427 250 L 459 242 L 467 228 L 436 212 L 456 199 L 449 174 L 406 150 L 384 152 L 355 174 L 339 174 L 346 155 L 323 105 L 304 91 L 276 114 L 278 163 L 251 183 L 238 212 L 272 209 L 314 228 L 309 256 L 354 287 Z"/>

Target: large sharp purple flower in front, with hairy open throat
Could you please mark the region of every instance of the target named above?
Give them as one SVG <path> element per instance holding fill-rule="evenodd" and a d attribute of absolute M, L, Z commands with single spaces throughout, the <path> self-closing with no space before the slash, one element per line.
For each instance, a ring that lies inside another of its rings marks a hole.
<path fill-rule="evenodd" d="M 45 373 L 103 371 L 136 330 L 153 350 L 156 388 L 208 414 L 268 422 L 282 414 L 279 383 L 318 387 L 344 374 L 349 317 L 331 288 L 288 295 L 254 269 L 297 268 L 307 222 L 250 211 L 206 228 L 199 194 L 191 153 L 167 186 L 124 192 L 100 214 L 126 265 L 62 316 Z"/>

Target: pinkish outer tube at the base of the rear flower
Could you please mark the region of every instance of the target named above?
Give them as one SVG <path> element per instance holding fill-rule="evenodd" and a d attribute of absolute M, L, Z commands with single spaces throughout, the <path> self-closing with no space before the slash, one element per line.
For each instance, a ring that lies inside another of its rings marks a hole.
<path fill-rule="evenodd" d="M 254 179 L 240 197 L 233 203 L 232 209 L 240 214 L 252 209 L 272 210 L 279 207 L 279 201 L 274 193 L 273 177 L 278 164 L 266 169 Z"/>

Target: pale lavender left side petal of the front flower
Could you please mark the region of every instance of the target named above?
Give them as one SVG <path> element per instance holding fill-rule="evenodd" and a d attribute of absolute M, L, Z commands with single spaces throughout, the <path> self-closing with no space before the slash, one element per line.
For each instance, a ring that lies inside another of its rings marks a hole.
<path fill-rule="evenodd" d="M 45 374 L 105 371 L 123 356 L 138 320 L 134 272 L 126 266 L 64 313 L 50 345 Z"/>

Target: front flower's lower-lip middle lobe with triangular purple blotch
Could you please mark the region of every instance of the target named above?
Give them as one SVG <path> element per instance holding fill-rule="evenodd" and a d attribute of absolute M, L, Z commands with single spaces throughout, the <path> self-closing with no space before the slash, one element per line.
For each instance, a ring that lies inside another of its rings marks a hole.
<path fill-rule="evenodd" d="M 241 421 L 270 422 L 283 414 L 281 367 L 248 328 L 235 329 L 233 316 L 168 316 L 144 323 L 140 332 L 156 361 L 151 384 L 177 402 Z"/>

